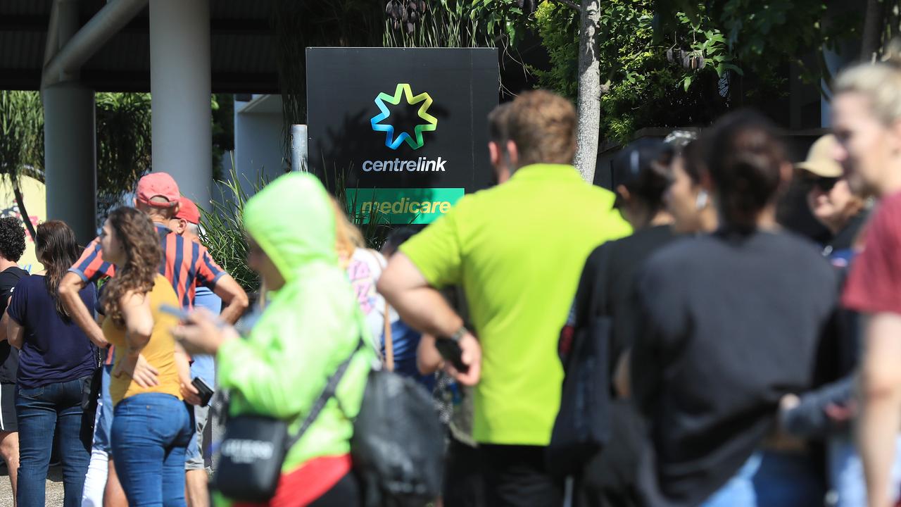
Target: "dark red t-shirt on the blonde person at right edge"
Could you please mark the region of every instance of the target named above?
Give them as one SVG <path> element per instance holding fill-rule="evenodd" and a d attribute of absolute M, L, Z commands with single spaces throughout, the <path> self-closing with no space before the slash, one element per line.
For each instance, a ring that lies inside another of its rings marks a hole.
<path fill-rule="evenodd" d="M 901 314 L 901 192 L 884 198 L 870 221 L 842 304 L 862 313 Z"/>

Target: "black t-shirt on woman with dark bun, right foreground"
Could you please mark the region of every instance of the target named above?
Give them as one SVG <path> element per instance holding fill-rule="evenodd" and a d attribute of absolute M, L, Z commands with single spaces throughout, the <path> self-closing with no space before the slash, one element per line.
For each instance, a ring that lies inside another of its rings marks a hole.
<path fill-rule="evenodd" d="M 789 234 L 703 235 L 651 256 L 631 369 L 651 426 L 647 504 L 703 502 L 760 446 L 783 395 L 835 378 L 836 276 Z"/>

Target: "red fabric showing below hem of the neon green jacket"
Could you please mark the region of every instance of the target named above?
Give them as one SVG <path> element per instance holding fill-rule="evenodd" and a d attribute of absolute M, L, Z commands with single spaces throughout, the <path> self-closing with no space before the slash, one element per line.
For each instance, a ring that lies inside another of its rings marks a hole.
<path fill-rule="evenodd" d="M 233 507 L 305 507 L 350 474 L 350 455 L 321 456 L 278 479 L 276 495 L 268 503 L 234 503 Z"/>

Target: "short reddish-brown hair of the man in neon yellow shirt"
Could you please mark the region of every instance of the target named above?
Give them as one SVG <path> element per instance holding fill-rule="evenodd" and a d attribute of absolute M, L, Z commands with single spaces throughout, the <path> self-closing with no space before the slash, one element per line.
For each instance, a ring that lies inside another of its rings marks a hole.
<path fill-rule="evenodd" d="M 576 154 L 576 109 L 569 100 L 545 90 L 516 97 L 505 112 L 509 138 L 519 165 L 572 163 Z"/>

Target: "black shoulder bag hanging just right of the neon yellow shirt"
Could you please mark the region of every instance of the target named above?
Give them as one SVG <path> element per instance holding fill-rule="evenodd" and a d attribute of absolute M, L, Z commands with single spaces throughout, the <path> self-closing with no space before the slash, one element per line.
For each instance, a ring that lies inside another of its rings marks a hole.
<path fill-rule="evenodd" d="M 560 411 L 546 451 L 548 471 L 558 477 L 578 475 L 610 438 L 613 322 L 605 312 L 607 274 L 606 269 L 595 274 L 587 306 L 577 308 L 573 341 L 563 364 Z"/>

